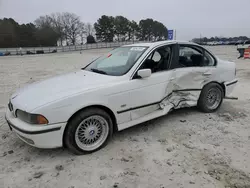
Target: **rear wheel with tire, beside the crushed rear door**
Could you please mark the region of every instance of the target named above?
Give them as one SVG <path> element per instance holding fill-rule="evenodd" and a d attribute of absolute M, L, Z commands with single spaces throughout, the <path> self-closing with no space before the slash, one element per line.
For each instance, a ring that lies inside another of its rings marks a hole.
<path fill-rule="evenodd" d="M 212 113 L 221 106 L 223 98 L 222 87 L 217 83 L 210 83 L 202 89 L 197 106 L 202 112 Z"/>

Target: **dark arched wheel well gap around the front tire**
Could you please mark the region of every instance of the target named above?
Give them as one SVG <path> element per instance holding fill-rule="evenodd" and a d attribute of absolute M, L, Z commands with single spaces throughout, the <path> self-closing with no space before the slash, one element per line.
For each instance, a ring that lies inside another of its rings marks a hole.
<path fill-rule="evenodd" d="M 115 114 L 114 114 L 114 113 L 112 112 L 112 110 L 110 110 L 108 107 L 102 106 L 102 105 L 92 105 L 92 106 L 84 107 L 84 108 L 78 110 L 77 112 L 75 112 L 75 113 L 69 118 L 68 122 L 70 122 L 71 119 L 73 119 L 75 116 L 77 116 L 77 115 L 79 114 L 79 112 L 81 112 L 82 110 L 86 110 L 86 109 L 88 109 L 88 108 L 100 108 L 100 109 L 104 110 L 105 112 L 107 112 L 107 113 L 110 115 L 111 119 L 112 119 L 112 122 L 113 122 L 113 125 L 114 125 L 114 127 L 113 127 L 113 128 L 114 128 L 114 131 L 117 131 L 117 130 L 118 130 L 117 121 L 116 121 Z M 63 147 L 65 147 L 64 134 L 65 134 L 65 132 L 66 132 L 66 130 L 67 130 L 67 127 L 68 127 L 68 123 L 67 123 L 66 128 L 65 128 L 64 133 L 63 133 Z"/>

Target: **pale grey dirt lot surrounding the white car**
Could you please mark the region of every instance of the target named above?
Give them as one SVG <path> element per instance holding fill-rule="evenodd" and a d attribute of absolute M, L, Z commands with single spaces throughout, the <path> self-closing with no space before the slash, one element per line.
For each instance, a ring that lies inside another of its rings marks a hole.
<path fill-rule="evenodd" d="M 85 156 L 24 144 L 4 113 L 18 87 L 78 69 L 107 50 L 0 58 L 0 188 L 249 188 L 250 60 L 238 60 L 235 46 L 210 48 L 237 63 L 238 101 L 224 101 L 213 114 L 174 111 L 116 133 Z"/>

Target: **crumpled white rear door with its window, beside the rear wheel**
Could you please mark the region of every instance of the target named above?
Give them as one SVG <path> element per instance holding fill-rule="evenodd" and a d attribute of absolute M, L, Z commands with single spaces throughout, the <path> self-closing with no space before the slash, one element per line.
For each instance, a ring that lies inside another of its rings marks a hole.
<path fill-rule="evenodd" d="M 214 66 L 208 64 L 214 65 L 215 60 L 203 48 L 183 44 L 178 45 L 177 59 L 170 67 L 173 70 L 174 91 L 171 102 L 175 108 L 181 107 L 182 101 L 186 106 L 194 106 L 203 86 L 211 81 Z"/>

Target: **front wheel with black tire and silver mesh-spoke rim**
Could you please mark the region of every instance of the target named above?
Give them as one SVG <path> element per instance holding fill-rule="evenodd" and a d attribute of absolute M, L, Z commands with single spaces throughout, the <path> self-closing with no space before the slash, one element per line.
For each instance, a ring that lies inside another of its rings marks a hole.
<path fill-rule="evenodd" d="M 87 108 L 69 121 L 64 133 L 64 143 L 74 154 L 84 155 L 106 146 L 112 135 L 110 115 L 99 108 Z"/>

